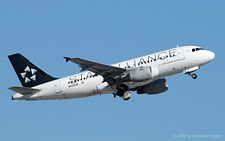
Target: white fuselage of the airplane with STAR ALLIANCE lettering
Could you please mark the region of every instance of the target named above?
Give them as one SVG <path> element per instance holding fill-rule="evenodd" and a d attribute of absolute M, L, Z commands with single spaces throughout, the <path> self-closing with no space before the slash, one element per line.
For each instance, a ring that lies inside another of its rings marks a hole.
<path fill-rule="evenodd" d="M 146 85 L 162 77 L 182 73 L 196 66 L 203 66 L 215 56 L 213 52 L 207 50 L 192 51 L 195 48 L 199 47 L 184 46 L 172 48 L 120 62 L 112 66 L 126 69 L 151 66 L 158 69 L 159 74 L 154 79 L 138 83 L 126 82 L 126 85 L 132 89 Z M 102 81 L 102 76 L 94 76 L 93 72 L 85 71 L 35 86 L 33 88 L 41 90 L 35 94 L 22 95 L 17 93 L 13 95 L 13 98 L 18 100 L 53 100 L 82 98 L 116 92 L 115 87 L 109 86 L 107 82 L 102 83 Z"/>

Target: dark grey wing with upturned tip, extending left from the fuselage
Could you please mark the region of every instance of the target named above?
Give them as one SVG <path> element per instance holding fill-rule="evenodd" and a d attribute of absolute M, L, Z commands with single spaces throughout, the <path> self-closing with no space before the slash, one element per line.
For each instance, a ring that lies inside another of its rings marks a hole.
<path fill-rule="evenodd" d="M 68 57 L 64 58 L 66 59 L 67 62 L 71 61 L 78 64 L 79 67 L 82 68 L 81 71 L 89 70 L 91 72 L 94 72 L 95 76 L 97 75 L 103 76 L 104 78 L 103 82 L 108 81 L 126 71 L 126 69 L 123 68 L 105 65 L 81 58 L 68 58 Z"/>

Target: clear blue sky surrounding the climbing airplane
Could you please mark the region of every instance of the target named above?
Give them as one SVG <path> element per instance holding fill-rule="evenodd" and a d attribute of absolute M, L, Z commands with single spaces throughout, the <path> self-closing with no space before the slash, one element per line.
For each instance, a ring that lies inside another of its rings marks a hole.
<path fill-rule="evenodd" d="M 222 0 L 0 1 L 0 140 L 172 141 L 179 134 L 224 140 L 224 5 Z M 113 64 L 176 45 L 198 45 L 216 58 L 196 72 L 197 80 L 167 77 L 169 90 L 160 95 L 132 93 L 126 102 L 111 94 L 27 102 L 12 101 L 7 89 L 21 86 L 7 58 L 13 53 L 64 77 L 80 68 L 63 56 Z"/>

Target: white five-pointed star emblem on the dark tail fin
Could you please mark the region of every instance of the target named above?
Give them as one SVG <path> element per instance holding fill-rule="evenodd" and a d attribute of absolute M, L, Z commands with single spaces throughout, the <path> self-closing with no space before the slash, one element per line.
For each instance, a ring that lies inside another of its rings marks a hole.
<path fill-rule="evenodd" d="M 37 72 L 36 69 L 30 68 L 29 66 L 27 66 L 24 69 L 24 72 L 20 73 L 20 75 L 23 77 L 24 82 L 28 83 L 30 81 L 36 81 L 36 75 L 35 75 L 36 72 Z"/>

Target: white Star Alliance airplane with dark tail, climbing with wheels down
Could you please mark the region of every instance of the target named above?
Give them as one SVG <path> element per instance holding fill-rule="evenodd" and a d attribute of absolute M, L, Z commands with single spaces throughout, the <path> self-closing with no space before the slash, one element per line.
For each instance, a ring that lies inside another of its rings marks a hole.
<path fill-rule="evenodd" d="M 13 86 L 12 100 L 62 100 L 113 94 L 129 100 L 132 91 L 138 94 L 160 94 L 168 90 L 165 79 L 178 73 L 193 79 L 203 65 L 215 54 L 199 46 L 175 47 L 113 65 L 82 58 L 64 57 L 66 62 L 78 64 L 81 72 L 55 78 L 31 63 L 19 53 L 8 58 L 23 87 Z"/>

